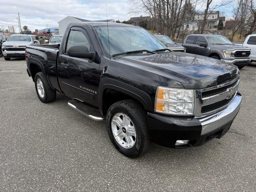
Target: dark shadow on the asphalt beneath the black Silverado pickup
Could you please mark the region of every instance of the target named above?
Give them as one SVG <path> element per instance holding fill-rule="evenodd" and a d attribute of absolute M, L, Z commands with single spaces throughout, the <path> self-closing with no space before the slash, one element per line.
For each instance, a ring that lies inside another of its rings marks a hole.
<path fill-rule="evenodd" d="M 61 109 L 63 110 L 63 105 L 66 104 L 66 106 L 64 106 L 66 108 L 65 111 L 67 114 L 67 116 L 65 117 L 67 118 L 66 120 L 72 121 L 74 123 L 74 127 L 79 123 L 86 124 L 86 127 L 81 127 L 81 129 L 87 129 L 82 131 L 84 132 L 85 135 L 86 135 L 86 131 L 88 130 L 92 135 L 95 135 L 95 136 L 99 135 L 99 131 L 100 131 L 100 135 L 102 136 L 102 138 L 104 138 L 104 140 L 102 140 L 103 142 L 102 146 L 106 147 L 103 150 L 113 150 L 113 153 L 115 154 L 116 158 L 121 158 L 121 159 L 125 158 L 128 161 L 138 161 L 138 162 L 146 161 L 148 163 L 150 161 L 155 162 L 156 160 L 161 162 L 165 160 L 175 159 L 177 162 L 179 162 L 179 164 L 180 162 L 182 162 L 182 164 L 185 166 L 192 160 L 194 161 L 195 158 L 198 160 L 205 158 L 205 156 L 209 155 L 210 153 L 209 151 L 214 152 L 218 150 L 219 143 L 214 140 L 197 148 L 185 148 L 185 149 L 164 148 L 162 146 L 150 144 L 148 152 L 143 156 L 138 157 L 136 159 L 127 158 L 126 156 L 123 156 L 122 154 L 120 154 L 110 142 L 108 138 L 108 133 L 106 131 L 105 121 L 102 121 L 102 122 L 93 121 L 90 118 L 84 116 L 83 114 L 80 114 L 76 110 L 73 110 L 72 108 L 68 107 L 67 102 L 69 100 L 70 98 L 68 98 L 64 94 L 58 93 L 56 97 L 56 101 L 54 102 L 54 105 L 57 108 L 60 108 L 60 110 Z M 97 144 L 95 143 L 95 145 Z M 95 147 L 98 148 L 97 146 Z M 86 154 L 84 155 L 86 156 Z"/>

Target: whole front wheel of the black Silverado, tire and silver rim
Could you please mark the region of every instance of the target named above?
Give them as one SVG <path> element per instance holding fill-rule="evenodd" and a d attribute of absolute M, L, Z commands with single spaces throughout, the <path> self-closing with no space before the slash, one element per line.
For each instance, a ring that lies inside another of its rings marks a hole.
<path fill-rule="evenodd" d="M 130 158 L 144 154 L 149 146 L 146 111 L 134 100 L 110 106 L 106 116 L 108 136 L 116 149 Z"/>

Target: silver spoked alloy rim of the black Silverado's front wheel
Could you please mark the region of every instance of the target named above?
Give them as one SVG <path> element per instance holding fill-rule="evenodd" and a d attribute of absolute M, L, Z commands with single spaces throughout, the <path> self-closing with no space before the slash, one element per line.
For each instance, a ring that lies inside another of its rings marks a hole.
<path fill-rule="evenodd" d="M 130 149 L 136 143 L 136 129 L 130 117 L 123 113 L 117 113 L 111 121 L 114 138 L 122 147 Z"/>

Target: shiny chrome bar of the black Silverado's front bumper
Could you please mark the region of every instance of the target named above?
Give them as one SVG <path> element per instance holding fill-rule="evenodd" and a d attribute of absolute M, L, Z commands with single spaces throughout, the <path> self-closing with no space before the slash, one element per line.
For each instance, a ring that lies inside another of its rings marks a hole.
<path fill-rule="evenodd" d="M 214 131 L 233 120 L 238 114 L 241 101 L 242 96 L 240 94 L 236 94 L 232 102 L 228 104 L 227 108 L 224 110 L 203 118 L 199 118 L 198 120 L 202 124 L 201 135 Z"/>

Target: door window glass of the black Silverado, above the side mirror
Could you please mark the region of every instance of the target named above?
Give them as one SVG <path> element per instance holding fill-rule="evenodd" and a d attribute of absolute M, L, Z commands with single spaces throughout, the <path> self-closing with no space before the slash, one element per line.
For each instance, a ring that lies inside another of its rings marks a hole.
<path fill-rule="evenodd" d="M 70 46 L 74 45 L 84 45 L 90 51 L 90 43 L 88 38 L 86 38 L 86 36 L 80 31 L 71 30 L 68 36 L 68 43 L 65 52 L 67 52 Z"/>

